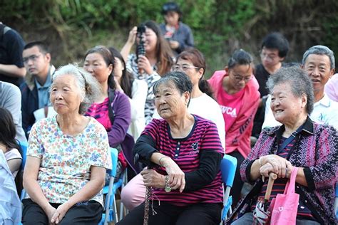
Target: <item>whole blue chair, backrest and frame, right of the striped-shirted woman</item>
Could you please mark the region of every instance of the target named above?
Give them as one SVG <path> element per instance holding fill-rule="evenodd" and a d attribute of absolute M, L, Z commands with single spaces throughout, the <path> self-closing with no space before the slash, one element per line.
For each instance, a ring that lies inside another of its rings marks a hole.
<path fill-rule="evenodd" d="M 237 159 L 230 155 L 224 155 L 222 162 L 220 163 L 220 171 L 222 173 L 222 182 L 224 188 L 223 195 L 223 209 L 222 209 L 222 221 L 227 219 L 227 214 L 232 213 L 232 197 L 230 196 L 230 189 L 235 178 L 235 172 L 237 167 Z"/>

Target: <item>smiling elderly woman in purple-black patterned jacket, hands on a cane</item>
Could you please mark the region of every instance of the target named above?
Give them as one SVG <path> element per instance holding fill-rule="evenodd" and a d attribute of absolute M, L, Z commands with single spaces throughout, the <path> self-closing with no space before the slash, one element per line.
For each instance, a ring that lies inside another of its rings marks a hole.
<path fill-rule="evenodd" d="M 255 182 L 255 186 L 235 209 L 234 215 L 240 212 L 241 217 L 233 224 L 252 224 L 252 209 L 257 197 L 264 197 L 267 188 L 260 178 L 262 175 L 267 177 L 270 172 L 278 175 L 271 200 L 284 191 L 293 167 L 299 168 L 295 188 L 299 194 L 296 224 L 335 224 L 337 131 L 309 118 L 314 95 L 304 70 L 280 68 L 269 78 L 267 86 L 272 93 L 272 112 L 282 125 L 262 130 L 255 147 L 241 164 L 242 180 Z M 249 207 L 245 209 L 245 206 Z"/>

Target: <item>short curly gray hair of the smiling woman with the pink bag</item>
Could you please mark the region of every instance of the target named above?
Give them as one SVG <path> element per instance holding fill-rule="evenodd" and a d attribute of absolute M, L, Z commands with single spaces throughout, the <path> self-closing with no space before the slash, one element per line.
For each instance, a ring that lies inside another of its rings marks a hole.
<path fill-rule="evenodd" d="M 307 96 L 306 110 L 308 114 L 311 114 L 314 105 L 314 93 L 309 75 L 298 66 L 282 67 L 267 80 L 267 88 L 272 93 L 273 88 L 282 83 L 288 83 L 291 86 L 293 95 L 299 98 L 303 94 Z"/>

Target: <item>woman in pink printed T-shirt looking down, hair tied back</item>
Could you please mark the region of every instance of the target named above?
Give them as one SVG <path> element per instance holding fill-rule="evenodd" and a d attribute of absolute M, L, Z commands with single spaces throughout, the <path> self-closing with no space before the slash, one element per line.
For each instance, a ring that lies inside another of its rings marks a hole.
<path fill-rule="evenodd" d="M 222 110 L 225 121 L 225 153 L 237 158 L 234 184 L 231 189 L 233 205 L 240 199 L 243 182 L 240 164 L 249 154 L 253 119 L 258 107 L 260 93 L 252 75 L 252 57 L 242 49 L 232 54 L 225 70 L 218 70 L 209 83 Z"/>

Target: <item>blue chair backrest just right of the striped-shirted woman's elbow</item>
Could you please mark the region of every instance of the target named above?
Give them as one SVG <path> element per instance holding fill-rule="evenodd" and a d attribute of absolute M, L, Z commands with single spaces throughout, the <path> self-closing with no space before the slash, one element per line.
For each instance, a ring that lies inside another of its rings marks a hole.
<path fill-rule="evenodd" d="M 230 155 L 224 155 L 220 164 L 220 171 L 222 172 L 222 182 L 227 187 L 232 187 L 235 178 L 237 167 L 237 159 Z"/>

